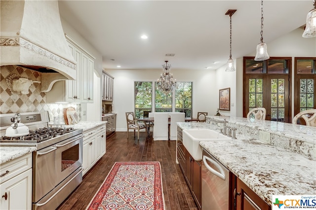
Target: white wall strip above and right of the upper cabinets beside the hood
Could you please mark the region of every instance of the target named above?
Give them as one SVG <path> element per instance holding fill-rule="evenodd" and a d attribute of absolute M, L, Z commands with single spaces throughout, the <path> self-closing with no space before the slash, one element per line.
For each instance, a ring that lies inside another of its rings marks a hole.
<path fill-rule="evenodd" d="M 83 38 L 67 21 L 61 17 L 64 33 L 76 40 L 85 50 L 94 57 L 93 103 L 81 104 L 81 120 L 101 121 L 101 76 L 102 55 L 85 38 Z"/>

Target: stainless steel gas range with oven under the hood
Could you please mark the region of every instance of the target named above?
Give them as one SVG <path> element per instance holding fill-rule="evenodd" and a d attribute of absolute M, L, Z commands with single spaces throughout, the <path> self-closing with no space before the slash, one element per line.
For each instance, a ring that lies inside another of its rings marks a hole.
<path fill-rule="evenodd" d="M 14 115 L 0 114 L 0 146 L 37 147 L 33 152 L 33 210 L 56 209 L 82 181 L 82 129 L 49 128 L 47 111 L 27 112 L 20 113 L 19 121 L 29 128 L 29 134 L 6 137 Z"/>

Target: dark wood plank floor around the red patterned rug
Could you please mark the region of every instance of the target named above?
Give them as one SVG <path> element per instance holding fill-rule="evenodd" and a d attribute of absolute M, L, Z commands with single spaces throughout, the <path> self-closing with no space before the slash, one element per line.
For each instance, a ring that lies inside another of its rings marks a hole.
<path fill-rule="evenodd" d="M 85 210 L 115 162 L 159 161 L 166 210 L 197 210 L 197 206 L 178 164 L 176 141 L 154 141 L 145 133 L 139 140 L 133 132 L 116 132 L 107 138 L 106 154 L 83 176 L 77 189 L 59 206 L 58 210 Z"/>

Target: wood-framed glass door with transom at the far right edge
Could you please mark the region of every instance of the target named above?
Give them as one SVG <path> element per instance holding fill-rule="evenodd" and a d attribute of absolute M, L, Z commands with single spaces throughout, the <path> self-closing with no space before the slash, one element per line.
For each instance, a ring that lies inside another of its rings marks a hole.
<path fill-rule="evenodd" d="M 294 59 L 294 115 L 316 108 L 316 58 Z"/>

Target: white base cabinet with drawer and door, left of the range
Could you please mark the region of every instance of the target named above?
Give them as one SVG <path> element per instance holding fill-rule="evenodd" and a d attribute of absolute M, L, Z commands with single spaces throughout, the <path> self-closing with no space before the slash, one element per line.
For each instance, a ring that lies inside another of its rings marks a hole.
<path fill-rule="evenodd" d="M 0 209 L 32 209 L 32 153 L 4 164 L 0 169 Z"/>

